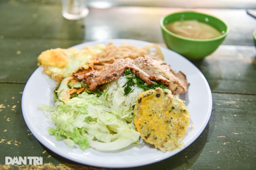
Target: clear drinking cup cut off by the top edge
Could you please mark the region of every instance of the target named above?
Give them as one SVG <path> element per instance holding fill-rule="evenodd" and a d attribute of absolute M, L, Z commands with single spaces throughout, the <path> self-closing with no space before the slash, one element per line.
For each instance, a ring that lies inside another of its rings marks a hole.
<path fill-rule="evenodd" d="M 89 13 L 86 0 L 62 0 L 62 16 L 69 20 L 85 18 Z"/>

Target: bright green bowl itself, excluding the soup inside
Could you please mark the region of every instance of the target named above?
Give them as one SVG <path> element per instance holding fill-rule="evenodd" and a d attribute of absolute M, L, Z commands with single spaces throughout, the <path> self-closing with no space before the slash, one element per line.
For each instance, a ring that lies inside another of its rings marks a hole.
<path fill-rule="evenodd" d="M 178 36 L 167 30 L 165 27 L 165 24 L 182 20 L 197 20 L 199 22 L 204 22 L 216 28 L 222 35 L 212 39 L 190 39 Z M 229 33 L 229 26 L 226 22 L 215 16 L 194 11 L 175 12 L 163 16 L 160 20 L 160 26 L 166 46 L 189 60 L 200 60 L 207 55 L 212 54 L 212 52 L 221 45 Z"/>

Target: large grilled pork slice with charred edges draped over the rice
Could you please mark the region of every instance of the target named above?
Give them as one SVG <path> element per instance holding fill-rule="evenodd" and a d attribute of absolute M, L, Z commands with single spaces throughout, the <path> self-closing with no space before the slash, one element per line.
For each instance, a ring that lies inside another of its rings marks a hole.
<path fill-rule="evenodd" d="M 103 69 L 84 70 L 73 75 L 84 81 L 91 90 L 95 90 L 98 85 L 120 78 L 128 68 L 133 70 L 135 76 L 149 85 L 154 84 L 154 81 L 168 85 L 173 95 L 187 91 L 189 84 L 182 72 L 175 73 L 165 61 L 151 57 L 138 57 L 134 60 L 131 58 L 117 59 Z"/>

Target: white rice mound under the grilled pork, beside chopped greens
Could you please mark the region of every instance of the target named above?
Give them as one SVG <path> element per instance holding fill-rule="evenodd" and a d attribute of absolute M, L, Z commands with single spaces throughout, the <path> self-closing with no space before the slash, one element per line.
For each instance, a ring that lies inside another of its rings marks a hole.
<path fill-rule="evenodd" d="M 125 74 L 123 74 L 119 79 L 115 81 L 111 81 L 105 84 L 104 89 L 108 91 L 107 101 L 112 103 L 113 106 L 118 106 L 121 110 L 129 109 L 130 112 L 133 112 L 133 105 L 136 104 L 137 97 L 144 90 L 139 88 L 136 84 L 131 86 L 134 89 L 127 95 L 124 95 L 124 88 L 122 87 L 128 79 L 125 78 Z M 117 108 L 118 109 L 118 108 Z M 120 111 L 121 111 L 120 110 Z M 122 112 L 122 111 L 121 111 Z"/>

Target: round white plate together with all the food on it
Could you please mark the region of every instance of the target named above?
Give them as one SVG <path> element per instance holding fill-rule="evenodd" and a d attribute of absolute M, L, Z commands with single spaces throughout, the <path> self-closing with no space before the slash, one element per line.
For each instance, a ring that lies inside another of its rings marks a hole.
<path fill-rule="evenodd" d="M 50 49 L 23 91 L 26 124 L 46 148 L 105 168 L 172 157 L 202 133 L 210 87 L 181 55 L 150 42 L 110 39 Z"/>

